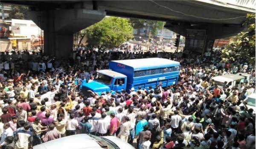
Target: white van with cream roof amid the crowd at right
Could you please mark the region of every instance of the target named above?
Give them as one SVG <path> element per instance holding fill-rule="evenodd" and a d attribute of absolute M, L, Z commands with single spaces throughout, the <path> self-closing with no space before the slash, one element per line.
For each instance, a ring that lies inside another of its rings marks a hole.
<path fill-rule="evenodd" d="M 244 76 L 236 75 L 236 74 L 226 74 L 226 75 L 220 75 L 216 77 L 212 77 L 212 80 L 214 80 L 215 84 L 218 85 L 218 87 L 223 88 L 224 82 L 227 82 L 227 85 L 231 89 L 236 84 L 240 84 L 241 82 L 244 83 Z"/>

